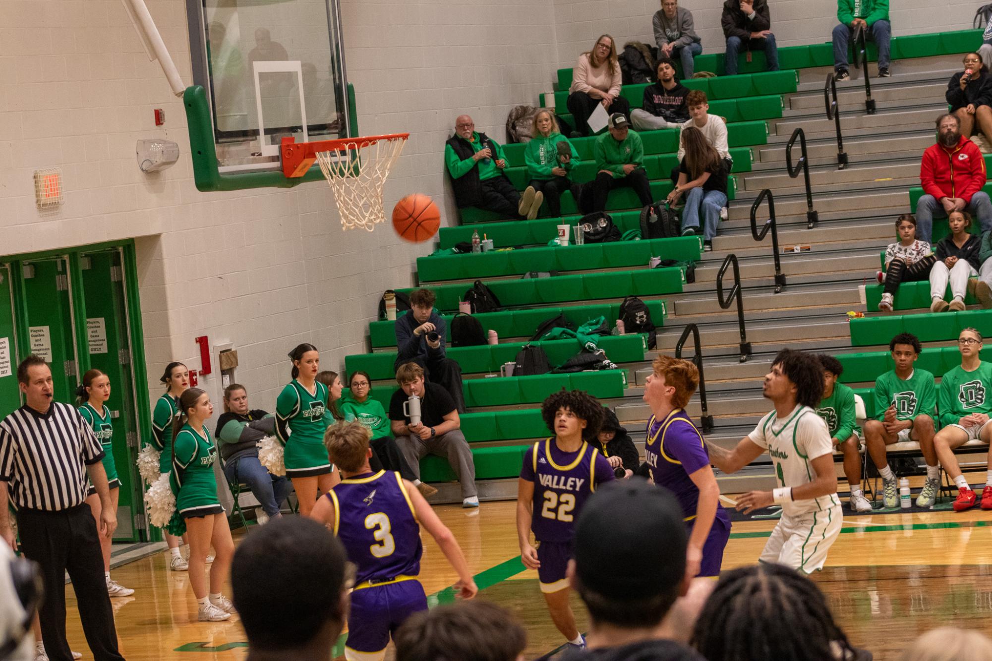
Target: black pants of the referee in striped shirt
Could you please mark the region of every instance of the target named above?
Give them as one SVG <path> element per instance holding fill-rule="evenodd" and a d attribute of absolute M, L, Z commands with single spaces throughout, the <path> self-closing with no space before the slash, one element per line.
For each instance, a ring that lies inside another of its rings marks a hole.
<path fill-rule="evenodd" d="M 103 576 L 103 552 L 89 505 L 62 511 L 21 509 L 17 512 L 21 550 L 42 568 L 42 639 L 52 661 L 72 661 L 65 640 L 65 572 L 75 592 L 86 642 L 96 661 L 117 661 L 114 611 Z"/>

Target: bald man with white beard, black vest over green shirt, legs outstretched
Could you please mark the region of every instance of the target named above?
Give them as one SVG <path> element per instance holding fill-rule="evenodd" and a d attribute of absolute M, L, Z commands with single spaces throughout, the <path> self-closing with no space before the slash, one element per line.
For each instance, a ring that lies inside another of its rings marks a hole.
<path fill-rule="evenodd" d="M 507 218 L 538 217 L 544 195 L 528 188 L 517 192 L 503 170 L 503 148 L 484 133 L 475 131 L 468 115 L 454 121 L 454 135 L 444 144 L 444 165 L 451 176 L 454 201 L 459 209 L 474 206 Z"/>

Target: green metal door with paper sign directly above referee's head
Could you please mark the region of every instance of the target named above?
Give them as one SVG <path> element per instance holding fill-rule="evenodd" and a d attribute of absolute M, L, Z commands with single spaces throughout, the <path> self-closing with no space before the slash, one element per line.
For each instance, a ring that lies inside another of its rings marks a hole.
<path fill-rule="evenodd" d="M 24 355 L 36 354 L 52 368 L 55 400 L 75 403 L 78 385 L 75 326 L 69 296 L 68 260 L 54 257 L 21 263 L 25 319 Z"/>

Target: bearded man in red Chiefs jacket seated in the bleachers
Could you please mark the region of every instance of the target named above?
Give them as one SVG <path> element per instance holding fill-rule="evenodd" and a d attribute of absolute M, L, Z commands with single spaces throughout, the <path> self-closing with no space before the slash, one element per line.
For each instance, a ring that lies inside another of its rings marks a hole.
<path fill-rule="evenodd" d="M 933 215 L 946 217 L 966 209 L 978 218 L 982 230 L 992 229 L 992 201 L 982 192 L 985 160 L 978 147 L 958 133 L 957 118 L 940 115 L 936 120 L 936 145 L 924 152 L 920 181 L 926 193 L 917 202 L 917 238 L 930 241 Z"/>

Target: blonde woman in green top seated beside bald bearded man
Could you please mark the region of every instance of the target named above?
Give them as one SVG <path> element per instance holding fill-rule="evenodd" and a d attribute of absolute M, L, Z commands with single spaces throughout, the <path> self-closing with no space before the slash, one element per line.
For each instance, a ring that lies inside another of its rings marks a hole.
<path fill-rule="evenodd" d="M 548 108 L 534 116 L 533 135 L 534 140 L 527 143 L 524 151 L 524 163 L 531 176 L 528 186 L 544 195 L 548 210 L 557 218 L 561 215 L 561 193 L 571 188 L 569 174 L 578 163 L 578 152 L 561 135 L 555 113 Z"/>

